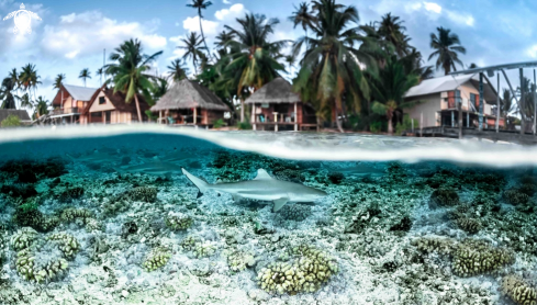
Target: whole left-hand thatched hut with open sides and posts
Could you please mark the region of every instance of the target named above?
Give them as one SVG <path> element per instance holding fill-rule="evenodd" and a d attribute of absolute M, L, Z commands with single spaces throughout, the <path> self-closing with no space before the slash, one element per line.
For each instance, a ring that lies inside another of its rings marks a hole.
<path fill-rule="evenodd" d="M 176 82 L 150 110 L 158 113 L 159 123 L 205 127 L 231 111 L 211 90 L 188 79 Z"/>

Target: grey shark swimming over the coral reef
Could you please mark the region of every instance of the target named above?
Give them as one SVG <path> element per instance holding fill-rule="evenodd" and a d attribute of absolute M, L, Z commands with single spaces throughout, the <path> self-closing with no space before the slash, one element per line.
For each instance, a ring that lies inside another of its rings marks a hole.
<path fill-rule="evenodd" d="M 200 190 L 198 197 L 213 190 L 219 194 L 228 193 L 235 201 L 240 199 L 272 201 L 272 212 L 280 211 L 288 202 L 314 202 L 327 195 L 323 191 L 300 183 L 273 179 L 264 169 L 257 170 L 257 177 L 254 180 L 216 184 L 209 184 L 184 169 L 182 173 Z"/>

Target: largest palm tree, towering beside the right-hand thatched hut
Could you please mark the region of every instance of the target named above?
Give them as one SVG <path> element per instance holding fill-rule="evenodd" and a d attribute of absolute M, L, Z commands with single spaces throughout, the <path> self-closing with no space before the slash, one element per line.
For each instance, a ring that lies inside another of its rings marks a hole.
<path fill-rule="evenodd" d="M 335 0 L 313 1 L 316 20 L 312 26 L 315 38 L 301 60 L 302 68 L 294 80 L 294 89 L 303 100 L 315 103 L 317 120 L 324 116 L 326 108 L 335 112 L 336 124 L 343 132 L 339 116 L 344 103 L 359 110 L 361 101 L 369 98 L 369 83 L 363 77 L 360 64 L 376 74 L 377 61 L 368 52 L 356 48 L 360 43 L 370 43 L 360 35 L 358 11 L 354 7 L 337 4 Z M 304 37 L 299 38 L 294 49 L 300 49 Z"/>

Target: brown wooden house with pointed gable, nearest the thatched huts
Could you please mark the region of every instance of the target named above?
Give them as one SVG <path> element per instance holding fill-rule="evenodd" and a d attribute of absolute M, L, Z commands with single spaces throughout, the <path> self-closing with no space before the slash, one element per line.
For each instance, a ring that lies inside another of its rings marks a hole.
<path fill-rule="evenodd" d="M 143 95 L 138 94 L 142 122 L 148 121 L 145 111 L 149 105 Z M 139 122 L 134 99 L 126 103 L 125 94 L 115 92 L 103 86 L 91 97 L 80 114 L 80 124 L 128 124 Z"/>

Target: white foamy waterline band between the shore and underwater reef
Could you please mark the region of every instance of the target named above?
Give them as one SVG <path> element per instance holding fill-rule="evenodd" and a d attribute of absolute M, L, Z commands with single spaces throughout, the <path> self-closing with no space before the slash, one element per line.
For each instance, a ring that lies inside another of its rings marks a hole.
<path fill-rule="evenodd" d="M 287 159 L 406 162 L 441 160 L 489 167 L 537 166 L 537 147 L 490 140 L 292 132 L 211 132 L 142 124 L 2 129 L 0 144 L 138 133 L 189 136 L 231 149 Z"/>

